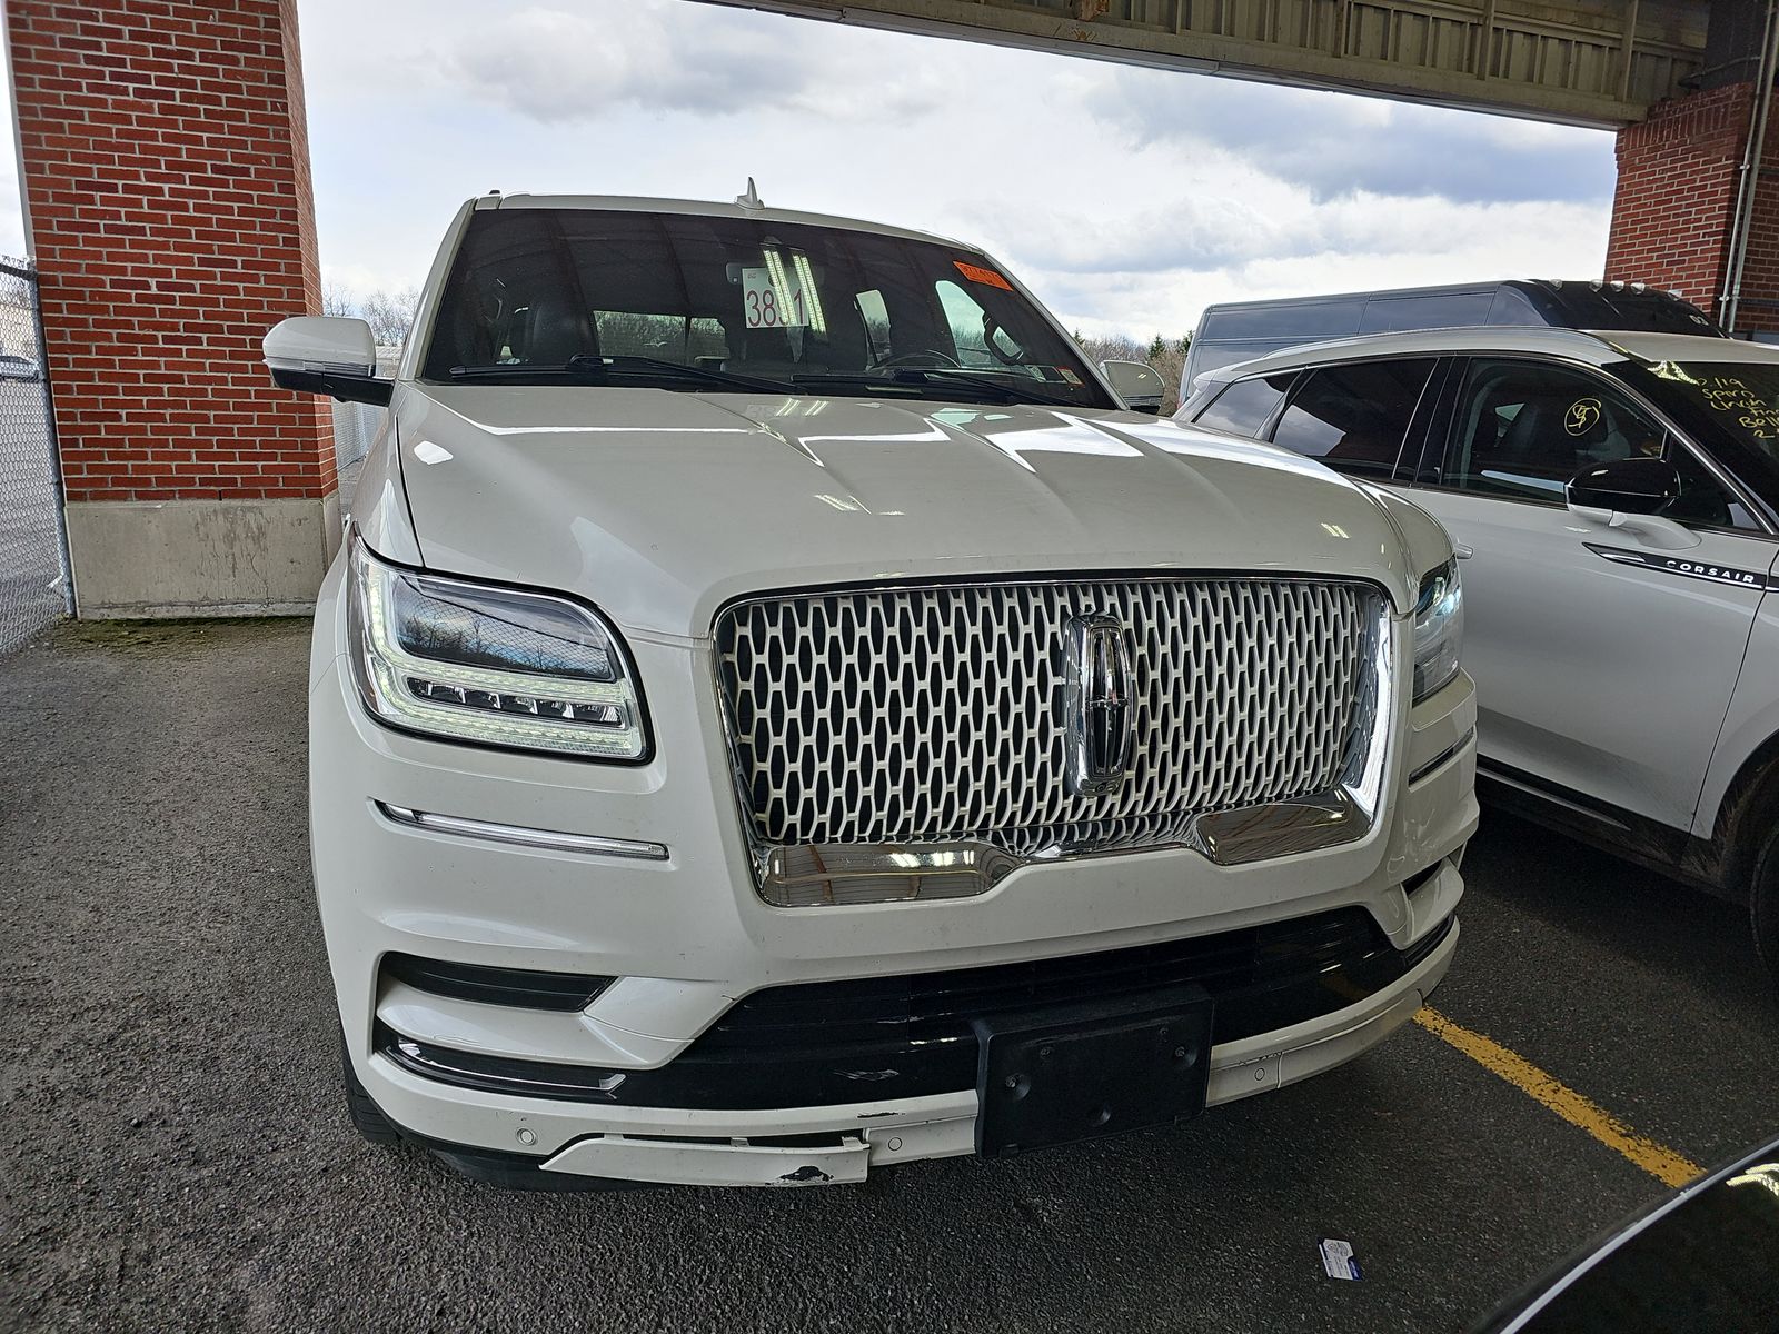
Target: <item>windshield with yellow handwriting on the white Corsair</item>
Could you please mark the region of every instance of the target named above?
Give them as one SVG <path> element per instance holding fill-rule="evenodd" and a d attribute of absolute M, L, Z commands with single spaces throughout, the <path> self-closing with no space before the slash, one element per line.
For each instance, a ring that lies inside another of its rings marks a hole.
<path fill-rule="evenodd" d="M 1779 361 L 1658 361 L 1621 374 L 1779 507 Z"/>

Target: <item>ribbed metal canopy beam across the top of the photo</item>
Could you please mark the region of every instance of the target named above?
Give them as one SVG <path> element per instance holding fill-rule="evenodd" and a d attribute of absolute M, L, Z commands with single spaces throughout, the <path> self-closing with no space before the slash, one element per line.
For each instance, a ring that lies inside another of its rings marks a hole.
<path fill-rule="evenodd" d="M 1685 91 L 1706 66 L 1711 12 L 1711 0 L 715 4 L 1603 128 Z"/>

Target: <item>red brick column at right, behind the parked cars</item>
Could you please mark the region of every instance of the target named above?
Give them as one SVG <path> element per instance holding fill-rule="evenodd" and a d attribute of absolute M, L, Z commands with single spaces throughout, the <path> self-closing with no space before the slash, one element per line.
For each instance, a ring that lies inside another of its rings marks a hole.
<path fill-rule="evenodd" d="M 1752 84 L 1658 103 L 1619 132 L 1606 277 L 1672 288 L 1719 315 Z M 1738 329 L 1779 329 L 1779 114 L 1768 119 Z"/>

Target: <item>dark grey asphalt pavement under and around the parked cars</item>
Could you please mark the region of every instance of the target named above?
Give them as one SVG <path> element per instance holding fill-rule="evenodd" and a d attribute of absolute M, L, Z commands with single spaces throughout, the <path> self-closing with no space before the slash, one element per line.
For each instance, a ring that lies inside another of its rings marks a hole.
<path fill-rule="evenodd" d="M 375 1149 L 308 888 L 306 640 L 0 658 L 0 1329 L 1462 1330 L 1667 1193 L 1418 1026 L 1178 1129 L 859 1188 L 516 1195 Z M 1740 909 L 1505 816 L 1464 872 L 1445 1016 L 1701 1165 L 1779 1131 Z"/>

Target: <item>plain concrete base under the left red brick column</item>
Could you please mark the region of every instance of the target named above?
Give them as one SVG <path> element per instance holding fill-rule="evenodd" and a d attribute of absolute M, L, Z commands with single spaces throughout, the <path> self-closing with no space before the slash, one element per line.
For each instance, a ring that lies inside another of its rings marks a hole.
<path fill-rule="evenodd" d="M 87 621 L 306 615 L 340 550 L 340 494 L 71 502 L 68 548 Z"/>

